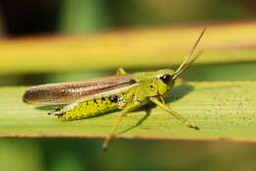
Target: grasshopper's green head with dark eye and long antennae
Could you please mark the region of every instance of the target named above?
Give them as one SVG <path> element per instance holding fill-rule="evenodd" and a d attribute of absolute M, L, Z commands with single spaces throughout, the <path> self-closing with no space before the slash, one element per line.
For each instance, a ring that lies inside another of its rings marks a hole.
<path fill-rule="evenodd" d="M 203 29 L 201 34 L 199 35 L 197 41 L 193 45 L 192 49 L 190 50 L 189 55 L 185 58 L 185 60 L 180 64 L 176 71 L 165 69 L 158 71 L 158 85 L 159 85 L 159 93 L 160 95 L 164 95 L 175 83 L 175 80 L 180 77 L 180 75 L 186 71 L 190 64 L 192 64 L 198 56 L 200 56 L 200 51 L 197 55 L 193 56 L 194 51 L 201 40 L 206 28 Z"/>

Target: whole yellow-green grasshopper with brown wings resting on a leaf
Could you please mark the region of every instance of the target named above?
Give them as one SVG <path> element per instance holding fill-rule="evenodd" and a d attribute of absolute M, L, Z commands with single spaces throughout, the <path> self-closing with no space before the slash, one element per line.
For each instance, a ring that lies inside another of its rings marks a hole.
<path fill-rule="evenodd" d="M 64 105 L 48 113 L 64 120 L 89 118 L 121 109 L 110 134 L 105 137 L 102 143 L 104 149 L 107 148 L 111 138 L 116 136 L 116 129 L 124 116 L 149 102 L 155 103 L 184 125 L 199 130 L 197 126 L 192 125 L 187 119 L 164 104 L 163 97 L 173 87 L 180 75 L 199 56 L 192 57 L 205 29 L 193 45 L 188 57 L 176 71 L 163 69 L 157 72 L 126 74 L 120 68 L 117 70 L 116 76 L 79 83 L 32 86 L 25 92 L 23 99 L 27 103 Z"/>

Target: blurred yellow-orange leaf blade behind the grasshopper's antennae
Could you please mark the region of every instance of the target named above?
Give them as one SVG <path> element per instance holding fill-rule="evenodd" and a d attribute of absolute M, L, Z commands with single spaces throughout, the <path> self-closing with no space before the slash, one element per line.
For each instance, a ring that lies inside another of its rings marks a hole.
<path fill-rule="evenodd" d="M 205 26 L 0 41 L 0 74 L 149 68 L 180 64 Z M 198 64 L 256 61 L 256 24 L 209 25 Z M 135 62 L 136 61 L 136 62 Z"/>

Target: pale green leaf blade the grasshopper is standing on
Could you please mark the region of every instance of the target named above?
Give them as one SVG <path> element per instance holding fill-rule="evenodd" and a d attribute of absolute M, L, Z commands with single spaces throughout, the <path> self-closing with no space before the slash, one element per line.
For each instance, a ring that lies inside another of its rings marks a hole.
<path fill-rule="evenodd" d="M 48 106 L 23 103 L 26 87 L 0 88 L 0 137 L 101 138 L 109 133 L 117 112 L 78 121 L 48 116 Z M 185 127 L 159 107 L 150 116 L 136 111 L 118 128 L 120 138 L 256 142 L 256 82 L 201 82 L 177 85 L 167 104 L 200 127 Z"/>

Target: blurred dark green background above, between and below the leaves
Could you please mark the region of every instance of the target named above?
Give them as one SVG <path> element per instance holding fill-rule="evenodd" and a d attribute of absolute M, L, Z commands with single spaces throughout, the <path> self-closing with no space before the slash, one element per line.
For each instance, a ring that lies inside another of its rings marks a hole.
<path fill-rule="evenodd" d="M 17 38 L 91 34 L 125 28 L 253 21 L 255 5 L 253 0 L 2 0 L 0 35 Z M 129 72 L 138 70 L 142 69 L 128 68 Z M 254 70 L 255 63 L 249 62 L 196 65 L 184 79 L 255 80 L 255 75 L 248 74 Z M 75 81 L 112 74 L 113 71 L 6 74 L 0 77 L 0 85 Z M 117 140 L 111 143 L 106 153 L 100 145 L 101 140 L 1 139 L 0 168 L 26 171 L 256 169 L 254 143 Z"/>

